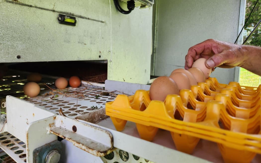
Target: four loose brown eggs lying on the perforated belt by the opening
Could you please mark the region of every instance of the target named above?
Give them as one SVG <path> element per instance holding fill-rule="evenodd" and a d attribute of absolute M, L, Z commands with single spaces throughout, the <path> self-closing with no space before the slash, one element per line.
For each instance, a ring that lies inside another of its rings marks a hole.
<path fill-rule="evenodd" d="M 27 76 L 27 81 L 23 87 L 23 93 L 29 97 L 35 97 L 40 93 L 40 86 L 36 83 L 41 81 L 42 76 L 39 73 L 31 73 Z M 73 88 L 77 88 L 81 85 L 81 80 L 78 76 L 72 76 L 69 79 L 69 84 Z M 58 89 L 64 89 L 68 86 L 68 81 L 64 77 L 59 77 L 55 80 L 55 86 Z"/>

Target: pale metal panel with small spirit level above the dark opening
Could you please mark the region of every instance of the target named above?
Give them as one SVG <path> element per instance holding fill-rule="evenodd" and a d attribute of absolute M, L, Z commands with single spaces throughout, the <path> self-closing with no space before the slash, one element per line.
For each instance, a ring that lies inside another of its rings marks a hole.
<path fill-rule="evenodd" d="M 108 60 L 110 80 L 150 80 L 152 8 L 125 15 L 112 0 L 0 0 L 0 10 L 0 62 Z M 76 26 L 59 24 L 59 13 Z"/>

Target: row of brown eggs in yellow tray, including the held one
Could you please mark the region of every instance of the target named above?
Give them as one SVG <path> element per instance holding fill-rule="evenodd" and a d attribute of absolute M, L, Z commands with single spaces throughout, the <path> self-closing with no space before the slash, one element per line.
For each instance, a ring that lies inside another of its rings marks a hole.
<path fill-rule="evenodd" d="M 205 66 L 205 58 L 197 59 L 192 68 L 175 69 L 170 76 L 160 76 L 150 86 L 151 100 L 164 101 L 168 94 L 179 94 L 181 89 L 190 89 L 198 82 L 205 82 L 210 76 L 211 68 Z"/>

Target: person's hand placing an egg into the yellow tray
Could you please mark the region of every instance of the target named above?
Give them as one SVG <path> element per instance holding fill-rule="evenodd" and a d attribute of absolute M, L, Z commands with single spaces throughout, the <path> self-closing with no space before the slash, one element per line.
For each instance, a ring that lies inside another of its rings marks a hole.
<path fill-rule="evenodd" d="M 246 60 L 241 45 L 209 39 L 189 48 L 185 57 L 185 69 L 191 68 L 198 58 L 206 58 L 207 68 L 233 68 L 241 66 Z"/>

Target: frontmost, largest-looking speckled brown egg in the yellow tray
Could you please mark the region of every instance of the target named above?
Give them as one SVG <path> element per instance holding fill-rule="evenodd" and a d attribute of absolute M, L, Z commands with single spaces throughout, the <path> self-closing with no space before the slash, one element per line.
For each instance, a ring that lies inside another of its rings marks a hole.
<path fill-rule="evenodd" d="M 150 86 L 150 99 L 164 101 L 168 94 L 179 94 L 175 81 L 167 76 L 160 76 Z"/>

